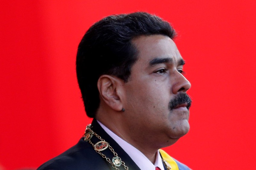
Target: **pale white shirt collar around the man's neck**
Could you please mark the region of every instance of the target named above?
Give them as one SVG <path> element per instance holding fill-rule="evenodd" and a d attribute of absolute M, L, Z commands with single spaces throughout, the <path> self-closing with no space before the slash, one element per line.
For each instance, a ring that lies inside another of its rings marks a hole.
<path fill-rule="evenodd" d="M 115 133 L 109 130 L 98 120 L 97 122 L 108 133 L 108 135 L 112 137 L 116 141 L 116 143 L 121 146 L 121 148 L 123 148 L 123 150 L 131 157 L 131 159 L 135 162 L 137 166 L 139 166 L 141 170 L 155 170 L 156 166 L 158 166 L 161 170 L 164 170 L 164 165 L 162 163 L 159 151 L 157 151 L 156 153 L 155 164 L 152 164 L 151 161 L 142 152 L 140 152 L 128 142 L 124 141 L 121 137 L 118 137 Z"/>

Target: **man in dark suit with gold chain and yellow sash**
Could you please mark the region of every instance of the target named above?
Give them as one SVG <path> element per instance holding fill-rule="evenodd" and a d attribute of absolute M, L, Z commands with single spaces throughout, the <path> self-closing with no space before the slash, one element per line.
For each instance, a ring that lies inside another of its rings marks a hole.
<path fill-rule="evenodd" d="M 145 12 L 91 26 L 78 46 L 76 73 L 92 125 L 38 169 L 189 169 L 159 150 L 189 130 L 190 83 L 175 35 Z"/>

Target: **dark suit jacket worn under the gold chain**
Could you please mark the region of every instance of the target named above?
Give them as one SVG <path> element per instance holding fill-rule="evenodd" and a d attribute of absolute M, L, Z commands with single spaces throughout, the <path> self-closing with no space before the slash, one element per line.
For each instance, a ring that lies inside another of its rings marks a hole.
<path fill-rule="evenodd" d="M 92 121 L 92 128 L 95 133 L 97 133 L 101 138 L 103 138 L 106 142 L 112 146 L 114 151 L 118 154 L 118 156 L 124 161 L 125 165 L 128 166 L 130 170 L 140 170 L 140 168 L 133 162 L 133 160 L 129 157 L 129 155 L 124 152 L 124 150 L 116 143 L 116 141 L 111 138 L 104 129 L 101 128 L 99 123 L 94 119 Z M 100 140 L 93 136 L 91 139 L 93 144 L 96 144 Z M 113 153 L 110 149 L 106 149 L 101 151 L 104 155 L 106 155 L 110 160 L 114 157 Z M 180 163 L 179 163 L 180 164 Z M 183 166 L 184 164 L 180 164 Z M 185 166 L 185 165 L 184 165 Z M 93 169 L 93 170 L 104 170 L 104 169 L 115 169 L 111 166 L 109 162 L 105 158 L 97 153 L 92 144 L 84 141 L 84 137 L 82 137 L 79 142 L 63 152 L 59 156 L 45 162 L 41 165 L 38 170 L 46 170 L 46 169 L 61 169 L 61 170 L 73 170 L 73 169 Z M 118 169 L 124 170 L 124 166 L 119 166 Z M 180 168 L 179 168 L 180 169 Z"/>

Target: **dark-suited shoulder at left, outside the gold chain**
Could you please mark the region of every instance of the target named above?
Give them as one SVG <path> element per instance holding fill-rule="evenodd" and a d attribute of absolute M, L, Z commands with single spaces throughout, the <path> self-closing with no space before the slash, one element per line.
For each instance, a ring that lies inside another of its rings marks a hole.
<path fill-rule="evenodd" d="M 45 162 L 37 170 L 102 169 L 104 166 L 108 169 L 109 165 L 94 151 L 91 144 L 80 139 L 75 146 Z"/>

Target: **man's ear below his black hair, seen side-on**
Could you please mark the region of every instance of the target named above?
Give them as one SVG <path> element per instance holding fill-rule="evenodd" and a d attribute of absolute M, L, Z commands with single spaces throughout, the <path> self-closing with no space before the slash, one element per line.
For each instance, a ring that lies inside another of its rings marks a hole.
<path fill-rule="evenodd" d="M 102 100 L 113 110 L 121 111 L 122 80 L 114 76 L 102 75 L 98 79 L 97 86 Z"/>

